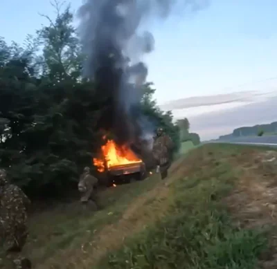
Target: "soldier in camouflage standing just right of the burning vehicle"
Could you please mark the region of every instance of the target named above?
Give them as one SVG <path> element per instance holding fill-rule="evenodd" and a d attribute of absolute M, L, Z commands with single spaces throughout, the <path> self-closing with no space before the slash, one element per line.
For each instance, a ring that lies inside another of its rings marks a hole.
<path fill-rule="evenodd" d="M 153 157 L 157 165 L 157 172 L 161 173 L 161 178 L 168 176 L 168 169 L 171 165 L 170 154 L 173 142 L 170 136 L 164 133 L 162 128 L 157 129 L 157 136 L 154 136 Z"/>

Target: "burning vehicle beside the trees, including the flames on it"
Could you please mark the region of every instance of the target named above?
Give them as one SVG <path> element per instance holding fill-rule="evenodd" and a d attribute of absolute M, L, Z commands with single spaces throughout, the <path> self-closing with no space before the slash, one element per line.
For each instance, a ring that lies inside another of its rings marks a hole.
<path fill-rule="evenodd" d="M 106 141 L 101 147 L 101 157 L 93 158 L 93 165 L 97 168 L 100 178 L 105 178 L 107 185 L 130 183 L 132 180 L 146 178 L 145 163 L 132 149 L 116 145 L 114 140 Z"/>

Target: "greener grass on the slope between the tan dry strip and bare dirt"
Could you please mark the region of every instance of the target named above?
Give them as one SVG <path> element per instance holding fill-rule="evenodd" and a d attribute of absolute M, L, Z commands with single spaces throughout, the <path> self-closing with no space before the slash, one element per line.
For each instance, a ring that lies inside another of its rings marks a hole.
<path fill-rule="evenodd" d="M 178 180 L 172 185 L 175 199 L 170 214 L 110 253 L 98 268 L 255 268 L 267 239 L 262 231 L 236 228 L 221 203 L 237 172 L 222 162 Z"/>

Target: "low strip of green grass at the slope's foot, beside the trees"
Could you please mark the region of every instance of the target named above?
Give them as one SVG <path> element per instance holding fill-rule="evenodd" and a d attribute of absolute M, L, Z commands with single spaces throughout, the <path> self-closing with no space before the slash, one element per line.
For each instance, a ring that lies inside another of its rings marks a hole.
<path fill-rule="evenodd" d="M 33 216 L 30 220 L 30 238 L 24 252 L 35 263 L 43 263 L 45 259 L 53 257 L 57 250 L 80 248 L 80 244 L 91 241 L 94 232 L 103 225 L 120 219 L 130 201 L 153 189 L 159 182 L 159 177 L 153 175 L 149 180 L 106 189 L 100 196 L 104 209 L 98 212 L 83 212 L 77 202 Z"/>

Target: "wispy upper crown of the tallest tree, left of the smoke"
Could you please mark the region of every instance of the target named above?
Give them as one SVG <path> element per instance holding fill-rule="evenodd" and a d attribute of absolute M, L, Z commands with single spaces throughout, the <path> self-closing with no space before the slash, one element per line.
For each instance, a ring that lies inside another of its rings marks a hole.
<path fill-rule="evenodd" d="M 70 79 L 77 80 L 82 72 L 82 53 L 76 30 L 73 27 L 73 14 L 70 6 L 62 10 L 63 3 L 51 3 L 57 17 L 48 20 L 49 26 L 37 31 L 40 44 L 43 48 L 44 68 L 51 79 L 58 81 Z"/>

